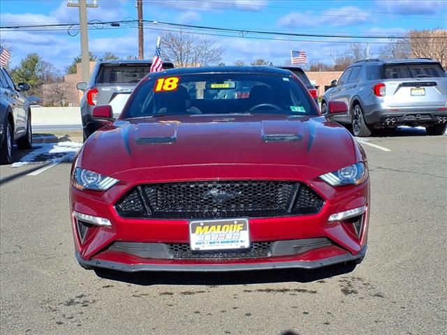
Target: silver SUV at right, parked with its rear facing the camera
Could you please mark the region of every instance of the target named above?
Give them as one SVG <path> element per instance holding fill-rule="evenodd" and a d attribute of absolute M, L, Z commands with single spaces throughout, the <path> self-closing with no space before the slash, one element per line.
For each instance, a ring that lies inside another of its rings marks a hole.
<path fill-rule="evenodd" d="M 425 126 L 428 135 L 442 135 L 447 126 L 447 77 L 432 59 L 367 59 L 346 68 L 321 101 L 344 101 L 346 114 L 332 117 L 350 124 L 356 136 L 374 129 Z"/>

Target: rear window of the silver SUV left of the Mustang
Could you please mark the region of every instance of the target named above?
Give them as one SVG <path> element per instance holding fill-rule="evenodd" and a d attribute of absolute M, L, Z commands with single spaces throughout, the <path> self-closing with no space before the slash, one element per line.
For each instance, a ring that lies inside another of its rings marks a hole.
<path fill-rule="evenodd" d="M 167 68 L 165 64 L 163 66 Z M 96 84 L 137 84 L 149 73 L 150 68 L 150 64 L 104 65 L 96 75 Z"/>

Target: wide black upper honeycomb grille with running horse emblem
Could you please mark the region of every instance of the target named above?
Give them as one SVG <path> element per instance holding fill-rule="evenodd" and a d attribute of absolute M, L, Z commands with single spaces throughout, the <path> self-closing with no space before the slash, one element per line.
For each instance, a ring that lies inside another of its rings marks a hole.
<path fill-rule="evenodd" d="M 311 188 L 293 181 L 191 181 L 133 188 L 115 208 L 125 218 L 237 218 L 315 214 Z"/>

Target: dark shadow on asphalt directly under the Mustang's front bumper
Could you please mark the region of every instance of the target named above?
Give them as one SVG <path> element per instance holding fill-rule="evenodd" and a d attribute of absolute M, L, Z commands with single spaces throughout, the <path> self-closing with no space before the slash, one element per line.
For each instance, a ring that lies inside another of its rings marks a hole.
<path fill-rule="evenodd" d="M 105 279 L 135 285 L 243 285 L 261 283 L 309 283 L 332 276 L 347 274 L 355 269 L 355 263 L 331 265 L 320 269 L 272 269 L 229 272 L 168 272 L 145 271 L 128 273 L 110 269 L 95 269 Z"/>

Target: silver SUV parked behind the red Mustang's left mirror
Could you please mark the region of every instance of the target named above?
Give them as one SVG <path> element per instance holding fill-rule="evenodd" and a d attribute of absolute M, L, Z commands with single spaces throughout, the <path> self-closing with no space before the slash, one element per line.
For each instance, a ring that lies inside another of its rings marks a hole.
<path fill-rule="evenodd" d="M 85 92 L 81 100 L 81 117 L 84 140 L 103 126 L 91 117 L 96 105 L 111 105 L 113 117 L 118 117 L 135 86 L 149 73 L 151 61 L 116 60 L 99 61 L 90 75 L 90 82 L 78 82 L 76 87 Z M 174 68 L 163 62 L 163 69 Z"/>

